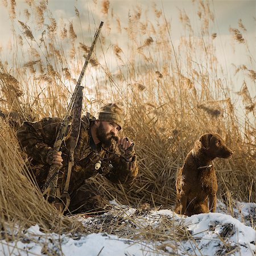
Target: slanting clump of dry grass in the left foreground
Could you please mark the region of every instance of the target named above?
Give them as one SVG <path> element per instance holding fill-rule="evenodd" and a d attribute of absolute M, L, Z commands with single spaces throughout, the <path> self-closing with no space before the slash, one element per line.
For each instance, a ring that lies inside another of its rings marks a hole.
<path fill-rule="evenodd" d="M 8 123 L 0 121 L 0 192 L 1 192 L 1 225 L 10 228 L 5 223 L 14 222 L 16 225 L 31 226 L 40 223 L 44 230 L 61 232 L 64 229 L 76 228 L 68 219 L 46 203 L 42 193 L 32 182 L 30 172 L 24 163 L 24 156 L 20 154 L 18 142 L 10 133 Z M 13 227 L 15 228 L 15 227 Z"/>

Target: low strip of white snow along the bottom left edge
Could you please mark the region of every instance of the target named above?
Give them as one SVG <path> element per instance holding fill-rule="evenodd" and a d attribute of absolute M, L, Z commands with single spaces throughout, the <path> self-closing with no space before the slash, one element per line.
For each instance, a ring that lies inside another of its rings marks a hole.
<path fill-rule="evenodd" d="M 38 225 L 32 226 L 30 229 L 38 229 Z M 33 236 L 34 235 L 34 236 Z M 42 233 L 42 236 L 46 234 Z M 63 239 L 55 233 L 48 234 L 47 238 L 40 238 L 37 234 L 30 233 L 27 237 L 31 242 L 6 242 L 1 241 L 0 255 L 23 256 L 23 255 L 45 255 L 54 251 L 54 255 L 76 255 L 76 256 L 127 256 L 127 255 L 155 255 L 160 256 L 154 249 L 154 246 L 119 238 L 105 233 L 88 234 L 79 240 L 73 238 Z M 35 241 L 35 242 L 32 242 Z M 58 243 L 59 241 L 60 243 Z M 47 245 L 47 249 L 43 244 Z M 48 252 L 48 253 L 47 253 Z"/>

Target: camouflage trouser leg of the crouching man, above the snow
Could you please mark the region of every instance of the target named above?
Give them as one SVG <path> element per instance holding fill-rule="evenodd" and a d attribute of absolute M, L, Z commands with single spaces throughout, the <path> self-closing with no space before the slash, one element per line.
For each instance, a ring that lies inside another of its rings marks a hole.
<path fill-rule="evenodd" d="M 71 195 L 69 212 L 102 214 L 109 210 L 109 201 L 100 195 L 93 185 L 85 183 Z"/>

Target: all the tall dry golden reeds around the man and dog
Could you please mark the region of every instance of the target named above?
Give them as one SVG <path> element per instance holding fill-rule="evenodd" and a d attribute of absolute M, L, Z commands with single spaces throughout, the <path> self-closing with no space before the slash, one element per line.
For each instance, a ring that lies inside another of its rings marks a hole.
<path fill-rule="evenodd" d="M 113 185 L 100 176 L 92 182 L 106 197 L 122 204 L 137 207 L 149 203 L 172 208 L 177 169 L 196 139 L 214 132 L 235 151 L 231 160 L 215 162 L 218 197 L 228 201 L 232 195 L 236 200 L 255 202 L 255 100 L 250 97 L 245 80 L 240 94 L 246 115 L 241 125 L 230 88 L 220 79 L 214 46 L 218 35 L 209 28 L 209 23 L 214 23 L 209 4 L 201 1 L 199 5 L 200 35 L 193 31 L 188 15 L 180 12 L 184 36 L 177 51 L 163 11 L 155 7 L 155 23 L 142 19 L 141 9 L 130 11 L 129 23 L 123 28 L 120 20 L 109 13 L 107 2 L 100 8 L 105 28 L 101 46 L 97 47 L 98 59 L 94 57 L 86 75 L 84 110 L 95 112 L 102 102 L 123 105 L 126 127 L 122 133 L 134 139 L 140 168 L 133 185 Z M 18 113 L 14 123 L 47 115 L 63 117 L 90 44 L 90 37 L 78 36 L 82 30 L 81 14 L 74 10 L 76 23 L 80 24 L 74 27 L 72 21 L 55 20 L 47 1 L 28 1 L 26 20 L 18 20 L 14 3 L 10 9 L 14 24 L 12 57 L 1 57 L 0 62 L 1 110 Z M 110 22 L 126 36 L 128 49 L 110 41 Z M 239 24 L 241 28 L 242 22 Z M 240 32 L 233 28 L 230 32 L 238 43 L 246 44 L 242 34 L 245 29 Z M 112 61 L 114 56 L 115 71 L 109 56 Z M 255 71 L 242 65 L 236 68 L 255 82 Z M 90 87 L 88 81 L 92 83 Z M 72 225 L 57 216 L 31 183 L 15 127 L 6 121 L 0 125 L 1 220 L 39 223 L 46 229 L 51 225 L 56 229 Z"/>

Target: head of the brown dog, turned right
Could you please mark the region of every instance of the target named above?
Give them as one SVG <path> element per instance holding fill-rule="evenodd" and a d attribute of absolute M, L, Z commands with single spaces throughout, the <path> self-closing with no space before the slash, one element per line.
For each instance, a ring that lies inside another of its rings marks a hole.
<path fill-rule="evenodd" d="M 233 154 L 233 151 L 226 146 L 218 134 L 204 134 L 200 137 L 199 141 L 206 154 L 214 158 L 231 158 Z"/>

